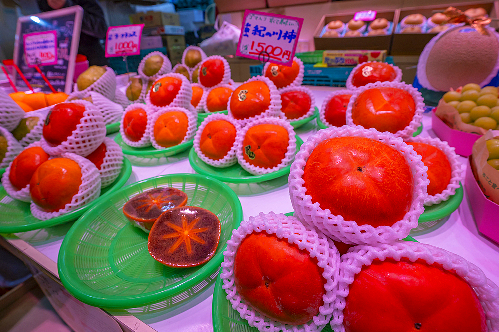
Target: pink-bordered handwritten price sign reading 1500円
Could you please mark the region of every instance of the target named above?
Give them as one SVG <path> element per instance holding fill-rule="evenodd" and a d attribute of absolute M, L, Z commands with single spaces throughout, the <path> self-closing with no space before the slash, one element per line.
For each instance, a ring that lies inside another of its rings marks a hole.
<path fill-rule="evenodd" d="M 291 67 L 303 18 L 245 10 L 236 55 Z"/>

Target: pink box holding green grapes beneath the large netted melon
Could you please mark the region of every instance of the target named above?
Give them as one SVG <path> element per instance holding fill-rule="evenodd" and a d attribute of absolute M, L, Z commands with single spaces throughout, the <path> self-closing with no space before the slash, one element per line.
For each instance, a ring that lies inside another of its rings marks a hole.
<path fill-rule="evenodd" d="M 468 157 L 469 155 L 471 155 L 473 143 L 475 143 L 475 141 L 482 136 L 452 129 L 447 124 L 445 124 L 444 121 L 442 121 L 437 115 L 435 115 L 436 110 L 437 108 L 434 108 L 432 110 L 432 130 L 435 132 L 438 138 L 443 141 L 447 141 L 450 146 L 456 149 L 455 151 L 457 154 L 463 157 Z"/>

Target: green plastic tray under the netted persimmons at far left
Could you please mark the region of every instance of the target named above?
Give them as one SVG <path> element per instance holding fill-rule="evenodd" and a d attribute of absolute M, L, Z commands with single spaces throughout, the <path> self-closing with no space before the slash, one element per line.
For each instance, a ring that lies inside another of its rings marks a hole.
<path fill-rule="evenodd" d="M 41 229 L 60 225 L 62 223 L 78 219 L 85 211 L 99 203 L 108 193 L 112 193 L 121 188 L 132 173 L 132 165 L 123 158 L 123 167 L 118 178 L 114 182 L 101 190 L 98 199 L 87 204 L 78 210 L 68 214 L 55 217 L 49 220 L 39 220 L 31 215 L 29 203 L 17 201 L 7 195 L 5 188 L 0 187 L 0 233 L 18 233 L 29 230 Z"/>

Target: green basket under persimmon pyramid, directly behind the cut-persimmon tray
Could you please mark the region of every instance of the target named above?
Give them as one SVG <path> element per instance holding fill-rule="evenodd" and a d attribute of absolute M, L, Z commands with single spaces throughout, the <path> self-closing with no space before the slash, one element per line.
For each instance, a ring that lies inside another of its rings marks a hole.
<path fill-rule="evenodd" d="M 121 134 L 118 133 L 114 138 L 114 141 L 118 143 L 123 151 L 123 154 L 134 164 L 139 166 L 151 166 L 151 165 L 160 165 L 164 163 L 168 163 L 169 157 L 172 157 L 176 154 L 180 154 L 181 152 L 191 148 L 194 139 L 191 139 L 185 143 L 175 145 L 166 149 L 155 149 L 152 146 L 147 147 L 132 147 L 126 145 L 121 138 Z M 178 160 L 174 160 L 178 161 Z"/>

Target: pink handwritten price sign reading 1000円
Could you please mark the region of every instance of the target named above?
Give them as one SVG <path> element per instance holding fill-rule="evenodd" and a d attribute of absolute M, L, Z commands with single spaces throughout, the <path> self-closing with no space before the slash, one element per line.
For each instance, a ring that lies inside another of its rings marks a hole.
<path fill-rule="evenodd" d="M 106 58 L 140 54 L 144 24 L 110 26 L 106 35 Z"/>

